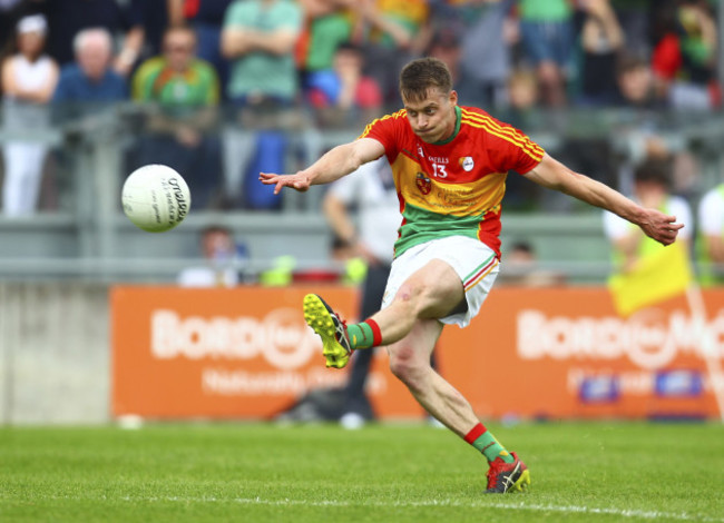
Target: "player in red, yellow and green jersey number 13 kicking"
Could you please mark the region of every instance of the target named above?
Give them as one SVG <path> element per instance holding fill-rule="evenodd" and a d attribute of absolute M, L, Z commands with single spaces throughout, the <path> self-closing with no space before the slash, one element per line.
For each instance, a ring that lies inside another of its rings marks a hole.
<path fill-rule="evenodd" d="M 417 401 L 489 462 L 488 493 L 521 491 L 530 474 L 480 423 L 468 401 L 430 366 L 446 324 L 478 314 L 499 269 L 500 211 L 506 176 L 516 170 L 545 187 L 610 210 L 655 240 L 676 239 L 676 218 L 647 209 L 568 169 L 519 130 L 486 111 L 458 106 L 450 71 L 421 58 L 400 73 L 404 109 L 370 124 L 350 144 L 295 175 L 260 174 L 263 184 L 307 190 L 385 155 L 400 198 L 402 225 L 382 310 L 355 325 L 324 300 L 304 298 L 304 318 L 322 337 L 327 367 L 354 349 L 385 345 L 390 368 Z"/>

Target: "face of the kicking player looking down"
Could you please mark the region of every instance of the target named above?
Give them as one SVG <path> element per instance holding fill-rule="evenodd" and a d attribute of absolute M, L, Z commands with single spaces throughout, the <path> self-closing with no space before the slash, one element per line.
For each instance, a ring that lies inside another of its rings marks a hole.
<path fill-rule="evenodd" d="M 454 106 L 458 93 L 444 93 L 430 89 L 422 100 L 402 100 L 408 110 L 408 120 L 412 131 L 427 144 L 434 144 L 449 138 L 456 128 Z"/>

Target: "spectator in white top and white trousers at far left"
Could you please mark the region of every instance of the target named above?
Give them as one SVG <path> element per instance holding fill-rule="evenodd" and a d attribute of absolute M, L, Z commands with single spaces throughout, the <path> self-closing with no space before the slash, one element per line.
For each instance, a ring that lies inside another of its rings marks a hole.
<path fill-rule="evenodd" d="M 47 22 L 33 14 L 17 26 L 18 52 L 2 62 L 4 127 L 32 132 L 49 125 L 47 102 L 58 82 L 58 66 L 43 53 Z M 47 146 L 10 138 L 3 146 L 2 211 L 27 215 L 36 209 Z"/>

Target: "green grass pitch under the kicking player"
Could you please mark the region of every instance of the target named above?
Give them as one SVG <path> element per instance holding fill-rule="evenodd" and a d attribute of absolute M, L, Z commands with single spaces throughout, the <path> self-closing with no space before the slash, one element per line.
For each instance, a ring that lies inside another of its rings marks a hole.
<path fill-rule="evenodd" d="M 2 522 L 724 522 L 724 426 L 491 426 L 531 470 L 482 495 L 481 456 L 422 425 L 0 430 Z"/>

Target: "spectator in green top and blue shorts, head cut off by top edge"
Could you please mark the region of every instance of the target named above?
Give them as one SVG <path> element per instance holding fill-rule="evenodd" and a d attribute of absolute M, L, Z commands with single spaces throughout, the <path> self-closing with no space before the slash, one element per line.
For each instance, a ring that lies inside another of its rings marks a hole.
<path fill-rule="evenodd" d="M 574 45 L 573 9 L 568 0 L 519 0 L 520 36 L 536 68 L 541 101 L 566 103 L 566 81 Z"/>

